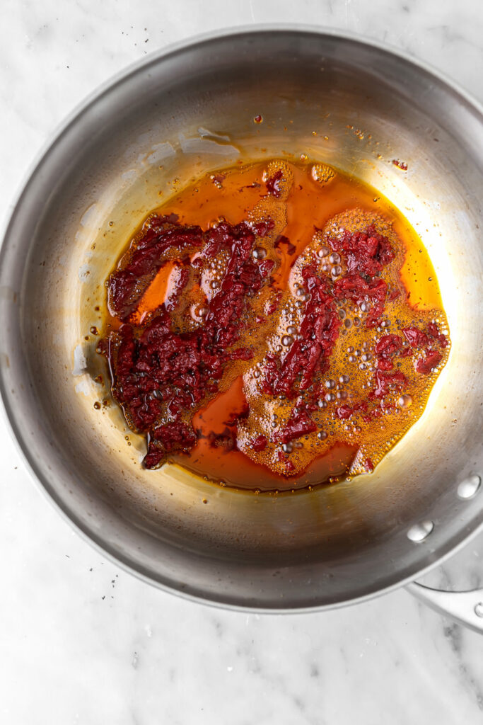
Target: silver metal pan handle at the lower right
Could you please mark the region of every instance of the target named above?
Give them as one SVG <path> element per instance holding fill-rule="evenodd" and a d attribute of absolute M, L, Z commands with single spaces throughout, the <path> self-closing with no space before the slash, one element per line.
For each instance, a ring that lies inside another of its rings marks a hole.
<path fill-rule="evenodd" d="M 440 589 L 429 589 L 422 584 L 416 584 L 416 581 L 407 584 L 406 589 L 440 614 L 483 634 L 483 589 L 472 589 L 470 592 L 442 592 Z"/>

